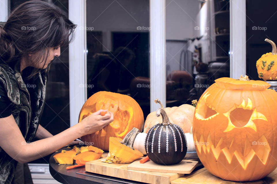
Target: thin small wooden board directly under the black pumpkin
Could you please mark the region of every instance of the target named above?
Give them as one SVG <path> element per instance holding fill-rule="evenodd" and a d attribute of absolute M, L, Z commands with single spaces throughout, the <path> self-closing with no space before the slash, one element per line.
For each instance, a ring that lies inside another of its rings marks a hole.
<path fill-rule="evenodd" d="M 178 164 L 164 166 L 164 165 L 156 164 L 151 160 L 148 162 L 145 162 L 144 164 L 141 164 L 139 163 L 139 160 L 136 160 L 133 163 L 129 164 L 127 166 L 127 169 L 152 171 L 152 172 L 160 172 L 160 173 L 190 174 L 198 164 L 198 162 L 196 161 L 182 160 Z"/>

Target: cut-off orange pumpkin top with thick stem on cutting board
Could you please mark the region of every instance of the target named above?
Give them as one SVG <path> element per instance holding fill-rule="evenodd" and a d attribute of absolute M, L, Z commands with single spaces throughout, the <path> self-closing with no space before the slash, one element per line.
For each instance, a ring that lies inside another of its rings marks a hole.
<path fill-rule="evenodd" d="M 107 163 L 131 163 L 141 158 L 143 154 L 134 149 L 133 144 L 139 129 L 133 128 L 122 140 L 117 137 L 110 137 L 109 153 L 106 160 Z"/>

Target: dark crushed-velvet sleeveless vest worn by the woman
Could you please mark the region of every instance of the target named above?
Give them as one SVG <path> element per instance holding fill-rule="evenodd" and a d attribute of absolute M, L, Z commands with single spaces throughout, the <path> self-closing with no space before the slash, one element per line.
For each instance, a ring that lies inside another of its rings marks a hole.
<path fill-rule="evenodd" d="M 0 62 L 0 82 L 4 85 L 14 120 L 25 141 L 31 142 L 40 122 L 45 104 L 46 84 L 50 65 L 36 76 L 23 82 L 20 62 L 14 68 Z M 9 140 L 6 140 L 9 141 Z M 14 177 L 16 160 L 0 147 L 0 183 L 11 183 Z"/>

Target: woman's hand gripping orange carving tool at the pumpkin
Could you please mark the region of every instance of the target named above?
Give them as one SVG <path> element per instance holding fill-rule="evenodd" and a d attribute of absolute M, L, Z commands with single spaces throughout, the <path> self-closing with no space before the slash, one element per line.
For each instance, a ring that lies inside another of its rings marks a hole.
<path fill-rule="evenodd" d="M 104 116 L 101 116 L 101 112 L 107 112 Z M 94 133 L 101 130 L 106 125 L 113 121 L 113 113 L 108 110 L 98 110 L 93 114 L 84 118 L 80 124 L 82 125 L 83 135 Z M 79 124 L 79 123 L 78 123 Z"/>

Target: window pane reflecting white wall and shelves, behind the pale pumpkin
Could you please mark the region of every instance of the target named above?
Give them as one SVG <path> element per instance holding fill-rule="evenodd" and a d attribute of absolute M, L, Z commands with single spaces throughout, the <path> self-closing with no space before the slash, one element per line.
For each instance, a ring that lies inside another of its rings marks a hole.
<path fill-rule="evenodd" d="M 229 77 L 229 1 L 166 1 L 166 106 L 191 104 Z"/>

